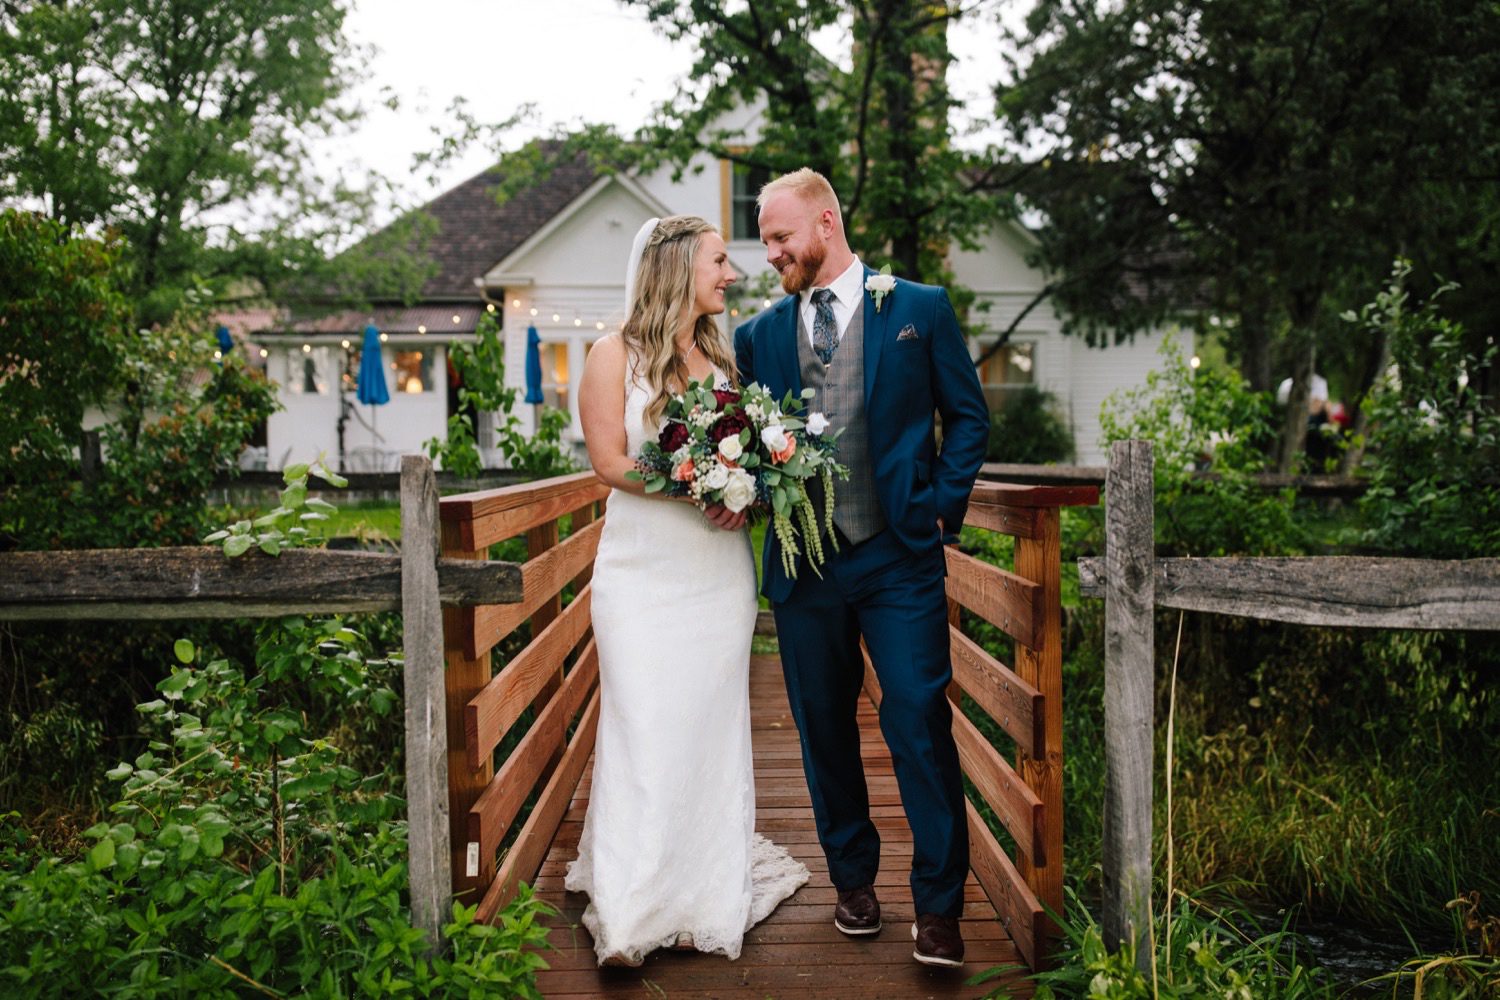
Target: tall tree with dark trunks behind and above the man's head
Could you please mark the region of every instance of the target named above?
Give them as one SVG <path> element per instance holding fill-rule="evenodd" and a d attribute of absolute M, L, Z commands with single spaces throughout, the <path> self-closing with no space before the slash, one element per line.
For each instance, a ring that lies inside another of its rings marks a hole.
<path fill-rule="evenodd" d="M 636 166 L 682 168 L 698 153 L 772 174 L 812 166 L 838 190 L 855 249 L 926 280 L 945 277 L 950 241 L 996 219 L 992 178 L 954 148 L 946 84 L 948 25 L 984 3 L 622 1 L 698 51 L 634 136 Z M 844 40 L 838 61 L 814 46 L 819 33 Z M 762 109 L 753 130 L 742 108 Z"/>

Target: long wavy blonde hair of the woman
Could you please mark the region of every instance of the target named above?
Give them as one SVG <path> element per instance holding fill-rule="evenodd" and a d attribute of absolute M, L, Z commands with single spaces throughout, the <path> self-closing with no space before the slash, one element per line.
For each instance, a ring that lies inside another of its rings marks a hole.
<path fill-rule="evenodd" d="M 652 393 L 646 402 L 645 424 L 657 427 L 672 393 L 687 387 L 687 364 L 676 354 L 676 328 L 693 309 L 693 261 L 705 232 L 717 232 L 698 216 L 668 216 L 646 238 L 636 268 L 630 318 L 620 336 L 632 358 L 633 373 Z M 693 340 L 704 357 L 740 385 L 735 358 L 718 324 L 704 313 L 693 324 Z"/>

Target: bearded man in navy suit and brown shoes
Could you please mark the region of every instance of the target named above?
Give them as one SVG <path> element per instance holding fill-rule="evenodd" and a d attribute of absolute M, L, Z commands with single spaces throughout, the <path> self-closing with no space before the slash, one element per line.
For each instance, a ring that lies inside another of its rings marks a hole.
<path fill-rule="evenodd" d="M 880 681 L 880 732 L 912 828 L 914 957 L 962 966 L 969 837 L 952 742 L 944 544 L 957 541 L 984 460 L 990 417 L 958 319 L 942 288 L 882 282 L 849 250 L 838 198 L 818 172 L 766 184 L 756 201 L 766 261 L 788 297 L 735 333 L 744 382 L 780 397 L 814 390 L 808 411 L 842 430 L 837 555 L 822 577 L 790 579 L 766 532 L 764 592 L 776 612 L 802 768 L 828 874 L 834 925 L 880 930 L 880 838 L 855 721 L 864 636 Z M 870 282 L 867 285 L 867 282 Z M 876 289 L 876 291 L 872 291 Z M 942 415 L 942 451 L 933 412 Z"/>

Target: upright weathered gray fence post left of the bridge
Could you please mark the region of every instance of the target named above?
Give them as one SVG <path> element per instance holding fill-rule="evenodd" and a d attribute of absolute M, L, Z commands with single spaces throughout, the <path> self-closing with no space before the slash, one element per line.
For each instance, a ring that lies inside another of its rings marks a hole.
<path fill-rule="evenodd" d="M 448 856 L 448 732 L 438 604 L 438 483 L 423 456 L 400 459 L 400 612 L 406 688 L 406 868 L 411 919 L 432 949 L 453 892 Z"/>

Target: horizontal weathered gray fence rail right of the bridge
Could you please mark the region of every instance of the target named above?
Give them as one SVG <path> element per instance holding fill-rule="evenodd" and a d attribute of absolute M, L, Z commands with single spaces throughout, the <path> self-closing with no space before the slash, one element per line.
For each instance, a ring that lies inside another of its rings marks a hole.
<path fill-rule="evenodd" d="M 1156 559 L 1154 573 L 1156 607 L 1330 628 L 1500 630 L 1500 559 Z M 1102 558 L 1078 559 L 1084 597 L 1108 585 Z"/>

